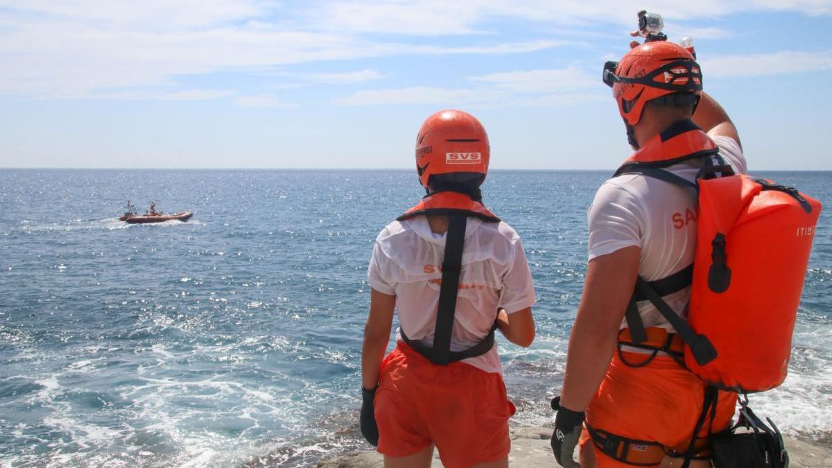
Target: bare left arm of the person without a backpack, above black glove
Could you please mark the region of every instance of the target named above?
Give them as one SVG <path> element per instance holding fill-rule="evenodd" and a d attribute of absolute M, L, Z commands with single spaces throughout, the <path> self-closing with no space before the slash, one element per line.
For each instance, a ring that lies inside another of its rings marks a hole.
<path fill-rule="evenodd" d="M 364 346 L 361 348 L 361 383 L 367 390 L 379 385 L 379 369 L 393 326 L 396 296 L 370 290 L 369 316 L 364 326 Z"/>

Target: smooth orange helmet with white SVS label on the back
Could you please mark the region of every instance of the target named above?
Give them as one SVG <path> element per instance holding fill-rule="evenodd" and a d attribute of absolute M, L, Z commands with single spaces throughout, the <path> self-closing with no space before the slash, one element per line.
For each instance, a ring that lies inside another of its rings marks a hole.
<path fill-rule="evenodd" d="M 438 174 L 488 173 L 488 134 L 468 112 L 439 111 L 428 117 L 416 136 L 416 171 L 422 186 Z"/>

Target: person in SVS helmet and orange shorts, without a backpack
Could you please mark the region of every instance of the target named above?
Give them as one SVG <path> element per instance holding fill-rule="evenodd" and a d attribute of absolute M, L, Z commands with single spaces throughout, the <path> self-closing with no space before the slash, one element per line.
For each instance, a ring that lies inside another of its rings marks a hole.
<path fill-rule="evenodd" d="M 532 275 L 512 227 L 482 203 L 488 135 L 466 112 L 437 112 L 416 144 L 428 195 L 377 237 L 361 355 L 361 431 L 384 466 L 508 466 L 506 396 L 494 344 L 534 338 Z M 399 331 L 384 356 L 394 309 Z"/>

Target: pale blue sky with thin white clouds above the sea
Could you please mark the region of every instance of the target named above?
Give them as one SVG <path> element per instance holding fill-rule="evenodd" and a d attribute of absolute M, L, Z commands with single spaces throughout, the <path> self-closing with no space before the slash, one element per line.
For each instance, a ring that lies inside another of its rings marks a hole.
<path fill-rule="evenodd" d="M 458 108 L 492 168 L 613 169 L 642 8 L 752 171 L 832 170 L 832 0 L 0 0 L 0 167 L 411 168 Z"/>

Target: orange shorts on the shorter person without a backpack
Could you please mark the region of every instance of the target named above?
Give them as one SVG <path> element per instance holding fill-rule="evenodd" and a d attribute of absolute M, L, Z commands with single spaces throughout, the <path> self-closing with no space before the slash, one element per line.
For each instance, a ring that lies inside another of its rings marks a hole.
<path fill-rule="evenodd" d="M 409 456 L 431 444 L 444 466 L 508 456 L 515 408 L 503 376 L 463 362 L 438 366 L 399 341 L 384 357 L 375 393 L 379 452 Z"/>

